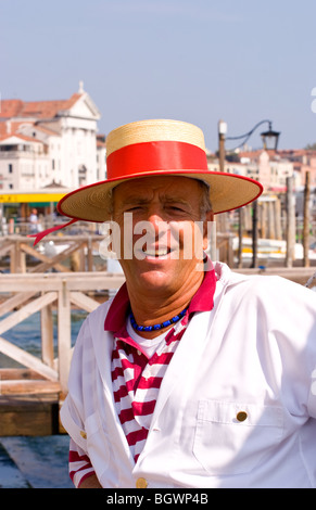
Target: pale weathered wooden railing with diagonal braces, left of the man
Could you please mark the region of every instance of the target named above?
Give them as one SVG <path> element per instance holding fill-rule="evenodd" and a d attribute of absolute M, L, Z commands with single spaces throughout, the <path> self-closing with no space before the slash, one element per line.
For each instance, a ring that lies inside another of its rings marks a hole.
<path fill-rule="evenodd" d="M 67 378 L 72 357 L 71 313 L 76 307 L 92 311 L 100 301 L 86 293 L 113 290 L 124 282 L 123 275 L 106 272 L 76 273 L 20 273 L 0 276 L 0 353 L 26 368 L 35 378 L 24 384 L 1 374 L 0 393 L 34 393 L 67 391 Z M 52 308 L 58 311 L 58 356 L 53 349 Z M 41 358 L 27 353 L 1 335 L 33 314 L 41 315 Z M 3 318 L 3 316 L 7 316 Z M 24 387 L 24 390 L 23 390 Z M 15 388 L 15 390 L 14 390 Z M 31 390 L 30 390 L 31 388 Z"/>

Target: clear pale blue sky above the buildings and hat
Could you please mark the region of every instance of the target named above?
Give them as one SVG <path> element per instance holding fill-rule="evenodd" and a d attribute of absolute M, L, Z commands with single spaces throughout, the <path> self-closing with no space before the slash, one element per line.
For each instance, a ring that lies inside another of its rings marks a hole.
<path fill-rule="evenodd" d="M 271 120 L 280 149 L 316 142 L 315 0 L 0 0 L 0 100 L 68 99 L 83 80 L 104 135 L 173 118 L 216 151 L 219 119 L 227 137 Z"/>

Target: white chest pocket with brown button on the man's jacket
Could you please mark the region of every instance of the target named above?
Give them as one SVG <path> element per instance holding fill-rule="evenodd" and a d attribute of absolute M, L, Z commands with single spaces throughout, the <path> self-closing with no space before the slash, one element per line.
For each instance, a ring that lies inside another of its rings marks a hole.
<path fill-rule="evenodd" d="M 210 474 L 247 473 L 281 439 L 282 417 L 280 407 L 200 400 L 193 454 Z"/>

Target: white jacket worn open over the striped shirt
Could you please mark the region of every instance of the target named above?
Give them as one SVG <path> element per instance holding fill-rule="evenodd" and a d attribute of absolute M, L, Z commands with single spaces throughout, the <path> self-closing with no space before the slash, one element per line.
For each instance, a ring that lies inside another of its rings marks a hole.
<path fill-rule="evenodd" d="M 110 303 L 84 322 L 61 419 L 103 487 L 316 487 L 316 293 L 215 270 L 214 308 L 191 319 L 136 464 L 112 395 Z"/>

